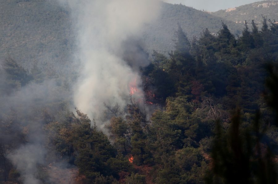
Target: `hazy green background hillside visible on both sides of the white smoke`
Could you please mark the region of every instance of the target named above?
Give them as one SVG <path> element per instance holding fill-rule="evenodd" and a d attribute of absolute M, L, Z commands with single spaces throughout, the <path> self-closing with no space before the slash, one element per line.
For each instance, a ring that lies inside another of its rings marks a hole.
<path fill-rule="evenodd" d="M 145 26 L 145 50 L 167 53 L 174 49 L 173 31 L 180 24 L 187 36 L 200 36 L 204 28 L 214 33 L 221 28 L 222 18 L 183 5 L 161 4 L 156 22 Z M 57 0 L 9 0 L 0 2 L 0 54 L 8 54 L 30 69 L 34 63 L 65 71 L 75 58 L 74 20 L 70 9 Z M 242 26 L 226 21 L 233 34 L 240 34 Z"/>

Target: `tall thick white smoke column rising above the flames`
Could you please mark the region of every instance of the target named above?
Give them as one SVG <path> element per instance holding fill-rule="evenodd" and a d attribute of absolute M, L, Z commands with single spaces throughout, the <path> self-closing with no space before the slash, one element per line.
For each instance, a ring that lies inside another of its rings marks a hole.
<path fill-rule="evenodd" d="M 60 0 L 77 18 L 82 69 L 74 89 L 76 106 L 100 124 L 104 105 L 124 107 L 129 84 L 140 77 L 122 58 L 123 42 L 138 37 L 158 16 L 158 0 Z"/>

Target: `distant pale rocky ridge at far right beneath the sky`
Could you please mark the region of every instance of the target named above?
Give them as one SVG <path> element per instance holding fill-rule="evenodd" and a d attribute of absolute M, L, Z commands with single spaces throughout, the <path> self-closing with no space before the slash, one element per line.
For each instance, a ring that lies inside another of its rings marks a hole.
<path fill-rule="evenodd" d="M 262 15 L 267 16 L 271 20 L 275 19 L 278 21 L 278 1 L 254 2 L 236 8 L 219 10 L 211 14 L 238 24 L 244 24 L 245 20 L 250 23 L 252 20 L 255 20 L 260 26 Z"/>

